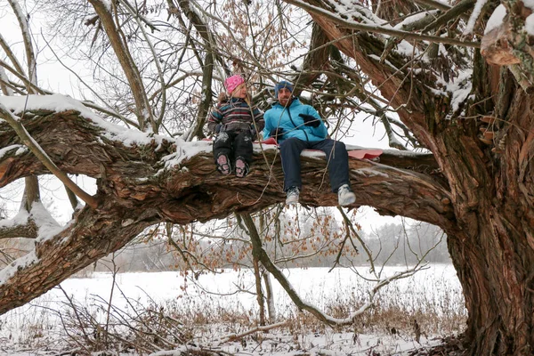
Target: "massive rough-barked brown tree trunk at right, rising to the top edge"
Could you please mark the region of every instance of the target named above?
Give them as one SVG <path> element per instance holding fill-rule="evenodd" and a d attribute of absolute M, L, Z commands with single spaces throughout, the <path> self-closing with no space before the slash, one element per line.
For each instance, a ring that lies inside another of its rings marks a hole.
<path fill-rule="evenodd" d="M 448 234 L 469 312 L 470 354 L 531 354 L 530 8 L 503 1 L 489 21 L 498 2 L 449 7 L 396 1 L 373 6 L 374 12 L 328 1 L 289 3 L 312 14 L 417 142 L 433 152 L 446 180 L 447 198 L 441 201 L 452 214 L 431 223 Z M 417 20 L 400 17 L 417 9 L 428 12 Z M 377 28 L 382 21 L 395 26 Z M 467 43 L 471 37 L 476 42 Z"/>

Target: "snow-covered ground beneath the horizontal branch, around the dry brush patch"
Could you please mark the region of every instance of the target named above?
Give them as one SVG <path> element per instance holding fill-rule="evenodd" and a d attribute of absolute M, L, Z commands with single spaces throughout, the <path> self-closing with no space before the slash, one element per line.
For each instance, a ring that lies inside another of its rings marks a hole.
<path fill-rule="evenodd" d="M 401 271 L 401 267 L 386 267 L 384 275 Z M 368 268 L 359 268 L 361 274 L 368 275 Z M 327 268 L 307 270 L 285 270 L 295 290 L 303 299 L 321 310 L 341 301 L 365 302 L 368 290 L 374 286 L 357 277 L 349 269 Z M 111 298 L 117 310 L 142 309 L 149 305 L 174 305 L 183 309 L 197 309 L 205 313 L 215 311 L 236 312 L 237 314 L 257 316 L 255 295 L 232 293 L 236 289 L 254 290 L 254 276 L 250 271 L 225 271 L 222 274 L 201 274 L 198 287 L 178 272 L 122 273 L 115 277 L 117 282 Z M 37 298 L 29 305 L 20 307 L 0 317 L 0 355 L 29 356 L 37 354 L 52 355 L 57 351 L 46 351 L 44 344 L 61 347 L 61 320 L 58 312 L 66 307 L 69 299 L 82 305 L 96 319 L 106 318 L 107 301 L 110 299 L 113 276 L 109 273 L 94 273 L 92 278 L 68 279 L 60 288 L 54 288 Z M 282 317 L 298 314 L 285 292 L 273 280 L 277 312 Z M 69 296 L 69 299 L 66 297 Z M 392 309 L 402 306 L 405 312 L 416 315 L 432 312 L 438 318 L 451 310 L 463 311 L 461 289 L 456 271 L 448 264 L 432 264 L 425 271 L 419 271 L 409 279 L 401 279 L 384 287 L 378 302 L 380 308 Z M 125 299 L 125 296 L 127 297 Z M 347 306 L 348 309 L 351 305 Z M 354 308 L 357 308 L 354 305 Z M 432 308 L 433 311 L 428 309 Z M 369 311 L 368 313 L 372 313 Z M 65 314 L 64 314 L 65 315 Z M 187 321 L 184 320 L 187 324 Z M 363 321 L 362 321 L 363 322 Z M 332 328 L 318 330 L 295 330 L 273 328 L 266 333 L 255 333 L 252 338 L 236 342 L 221 342 L 224 336 L 247 331 L 245 328 L 206 328 L 203 336 L 198 336 L 198 344 L 209 345 L 236 355 L 402 355 L 414 348 L 439 344 L 437 336 L 422 329 L 419 343 L 411 328 L 399 325 L 399 321 L 386 322 L 391 328 L 376 328 L 373 333 L 336 331 Z M 392 332 L 392 328 L 396 328 Z M 365 328 L 368 330 L 369 328 Z M 60 338 L 60 340 L 58 340 Z M 41 344 L 42 346 L 39 346 Z M 191 346 L 189 346 L 191 347 Z M 32 350 L 32 351 L 28 351 Z M 57 349 L 56 349 L 57 350 Z M 307 353 L 306 353 L 307 352 Z M 127 354 L 127 353 L 123 353 Z M 131 354 L 131 353 L 130 353 Z M 162 353 L 163 354 L 163 353 Z M 165 353 L 171 354 L 171 353 Z M 174 354 L 180 354 L 178 351 Z"/>

